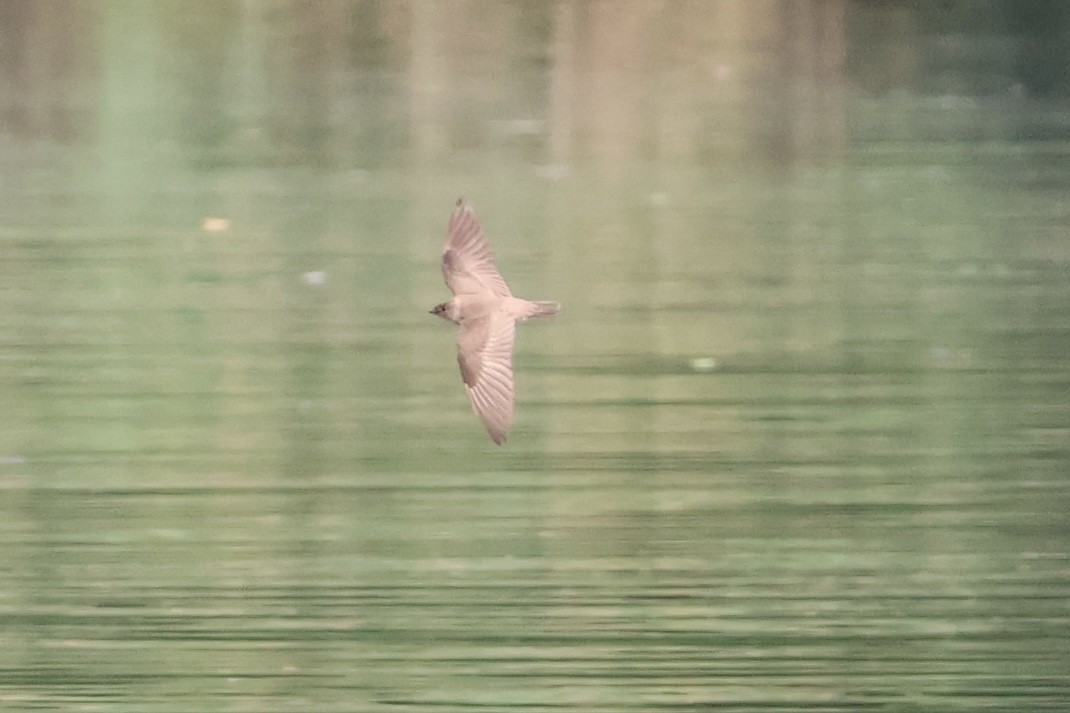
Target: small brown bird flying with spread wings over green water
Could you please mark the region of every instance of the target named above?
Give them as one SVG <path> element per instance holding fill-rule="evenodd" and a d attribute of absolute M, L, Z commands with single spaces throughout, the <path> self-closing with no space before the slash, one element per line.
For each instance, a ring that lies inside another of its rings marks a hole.
<path fill-rule="evenodd" d="M 458 325 L 457 361 L 464 390 L 491 440 L 501 445 L 513 425 L 517 322 L 553 317 L 561 304 L 513 297 L 494 266 L 475 211 L 460 198 L 446 233 L 442 276 L 454 299 L 435 305 L 431 314 Z"/>

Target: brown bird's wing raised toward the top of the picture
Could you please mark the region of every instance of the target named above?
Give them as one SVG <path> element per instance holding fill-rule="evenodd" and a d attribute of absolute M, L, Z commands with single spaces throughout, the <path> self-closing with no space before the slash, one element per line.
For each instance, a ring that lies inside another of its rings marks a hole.
<path fill-rule="evenodd" d="M 494 256 L 483 237 L 475 211 L 463 200 L 449 217 L 446 247 L 442 253 L 442 276 L 454 294 L 490 291 L 509 297 L 509 286 L 494 267 Z"/>

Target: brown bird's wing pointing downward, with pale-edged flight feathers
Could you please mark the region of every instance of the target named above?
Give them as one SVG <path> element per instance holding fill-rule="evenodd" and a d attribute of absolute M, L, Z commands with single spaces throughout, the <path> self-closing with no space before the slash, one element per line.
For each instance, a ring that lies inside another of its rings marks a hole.
<path fill-rule="evenodd" d="M 516 322 L 502 313 L 465 322 L 457 332 L 457 361 L 472 408 L 501 445 L 513 425 L 513 344 Z"/>

